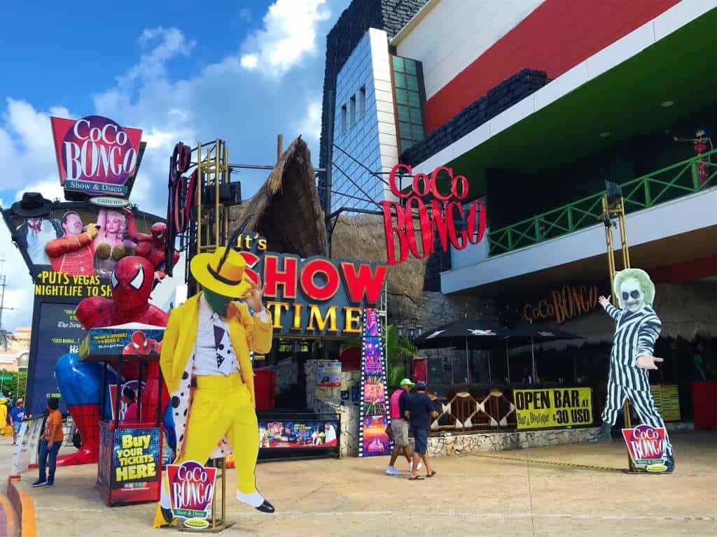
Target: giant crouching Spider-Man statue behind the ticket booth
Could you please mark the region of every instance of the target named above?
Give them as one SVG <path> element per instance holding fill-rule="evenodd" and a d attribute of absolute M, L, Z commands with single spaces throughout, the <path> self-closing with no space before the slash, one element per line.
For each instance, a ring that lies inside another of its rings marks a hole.
<path fill-rule="evenodd" d="M 129 322 L 166 326 L 168 314 L 148 302 L 153 276 L 154 267 L 145 258 L 128 256 L 120 259 L 110 279 L 112 299 L 100 296 L 83 299 L 75 311 L 77 320 L 87 330 Z M 82 448 L 72 455 L 58 457 L 58 465 L 98 462 L 100 401 L 102 390 L 106 389 L 102 386 L 102 369 L 100 364 L 80 362 L 77 353 L 65 354 L 57 362 L 57 384 L 82 438 Z M 137 364 L 125 364 L 122 374 L 138 379 L 138 369 Z M 146 371 L 141 420 L 153 421 L 157 413 L 158 364 L 150 364 Z M 167 402 L 168 393 L 163 387 L 162 412 L 166 410 Z"/>

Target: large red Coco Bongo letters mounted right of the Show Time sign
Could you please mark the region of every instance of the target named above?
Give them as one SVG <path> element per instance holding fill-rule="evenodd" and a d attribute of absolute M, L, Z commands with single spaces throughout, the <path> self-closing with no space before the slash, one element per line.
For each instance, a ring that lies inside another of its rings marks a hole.
<path fill-rule="evenodd" d="M 453 175 L 452 168 L 439 166 L 430 175 L 414 175 L 411 190 L 404 193 L 396 184 L 396 176 L 402 172 L 412 175 L 412 171 L 409 165 L 395 165 L 389 175 L 389 186 L 391 193 L 400 201 L 381 201 L 389 265 L 403 263 L 409 253 L 418 259 L 425 258 L 436 250 L 437 242 L 440 242 L 442 251 L 448 251 L 450 246 L 463 250 L 469 244 L 480 243 L 485 234 L 485 203 L 474 200 L 464 211 L 462 200 L 469 193 L 465 176 Z M 448 192 L 440 191 L 440 173 L 447 174 L 450 180 Z M 459 222 L 465 222 L 465 226 L 457 226 Z M 416 238 L 417 231 L 420 243 Z"/>

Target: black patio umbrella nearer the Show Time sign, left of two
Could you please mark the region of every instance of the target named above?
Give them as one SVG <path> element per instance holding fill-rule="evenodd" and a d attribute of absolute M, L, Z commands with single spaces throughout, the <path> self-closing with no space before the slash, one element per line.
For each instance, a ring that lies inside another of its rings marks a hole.
<path fill-rule="evenodd" d="M 413 344 L 419 349 L 442 349 L 465 347 L 466 371 L 470 381 L 468 349 L 495 349 L 503 347 L 511 331 L 490 321 L 461 319 L 435 329 L 427 330 Z M 451 369 L 452 370 L 452 369 Z M 490 357 L 488 357 L 488 382 L 492 382 Z"/>

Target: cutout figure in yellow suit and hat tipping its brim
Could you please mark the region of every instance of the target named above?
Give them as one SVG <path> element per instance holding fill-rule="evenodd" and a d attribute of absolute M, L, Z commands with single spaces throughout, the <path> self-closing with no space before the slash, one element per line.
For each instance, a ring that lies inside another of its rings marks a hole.
<path fill-rule="evenodd" d="M 250 281 L 244 269 L 244 258 L 232 248 L 191 259 L 191 274 L 204 290 L 171 311 L 160 365 L 171 394 L 174 463 L 204 464 L 210 457 L 229 455 L 233 447 L 237 500 L 273 513 L 255 485 L 259 427 L 249 358 L 250 351 L 270 351 L 272 322 L 262 304 L 261 283 Z M 165 477 L 155 527 L 171 522 Z"/>

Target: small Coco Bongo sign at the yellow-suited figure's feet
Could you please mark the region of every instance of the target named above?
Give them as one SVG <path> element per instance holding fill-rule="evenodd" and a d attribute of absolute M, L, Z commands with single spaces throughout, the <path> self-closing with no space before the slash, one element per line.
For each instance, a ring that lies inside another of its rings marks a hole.
<path fill-rule="evenodd" d="M 181 465 L 167 465 L 169 502 L 179 523 L 190 529 L 204 529 L 212 515 L 217 468 L 204 466 L 196 460 Z"/>

